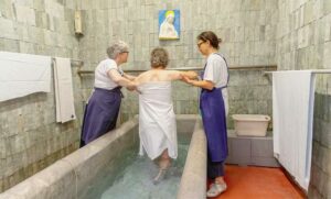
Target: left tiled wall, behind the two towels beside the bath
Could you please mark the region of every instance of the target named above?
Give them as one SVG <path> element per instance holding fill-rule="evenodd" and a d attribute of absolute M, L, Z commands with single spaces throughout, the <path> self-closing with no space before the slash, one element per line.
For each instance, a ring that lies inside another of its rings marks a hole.
<path fill-rule="evenodd" d="M 73 29 L 75 9 L 72 0 L 1 0 L 0 51 L 78 58 Z M 77 65 L 72 66 L 79 117 L 77 69 Z M 79 119 L 55 122 L 53 84 L 51 88 L 49 93 L 0 102 L 0 192 L 77 148 Z"/>

